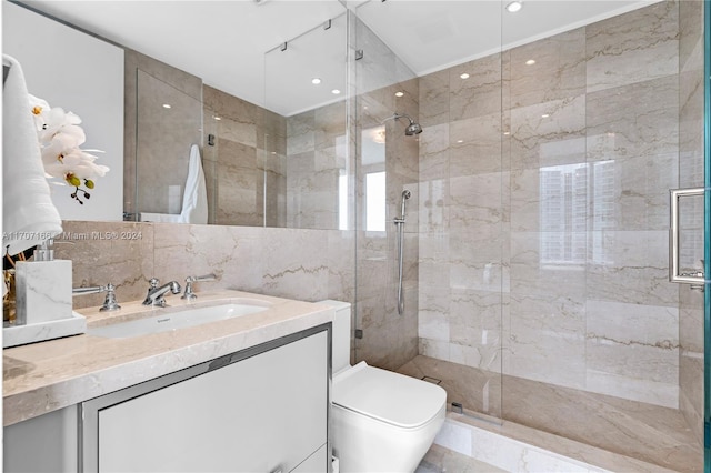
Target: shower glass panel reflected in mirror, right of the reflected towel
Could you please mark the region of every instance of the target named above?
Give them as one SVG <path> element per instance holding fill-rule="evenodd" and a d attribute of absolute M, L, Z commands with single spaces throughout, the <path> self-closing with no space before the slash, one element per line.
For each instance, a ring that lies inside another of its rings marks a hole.
<path fill-rule="evenodd" d="M 264 132 L 268 225 L 352 228 L 346 59 L 346 14 L 264 57 L 264 103 L 283 119 Z"/>

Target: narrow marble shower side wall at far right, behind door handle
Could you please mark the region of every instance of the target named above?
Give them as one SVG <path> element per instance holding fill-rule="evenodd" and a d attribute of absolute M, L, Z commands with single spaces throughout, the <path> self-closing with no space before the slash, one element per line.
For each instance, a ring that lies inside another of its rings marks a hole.
<path fill-rule="evenodd" d="M 679 188 L 703 187 L 703 2 L 679 3 Z M 690 268 L 703 258 L 703 202 L 682 208 L 691 239 L 682 252 Z M 682 233 L 683 234 L 683 233 Z M 703 294 L 679 288 L 679 407 L 703 442 Z M 708 394 L 707 394 L 708 395 Z"/>

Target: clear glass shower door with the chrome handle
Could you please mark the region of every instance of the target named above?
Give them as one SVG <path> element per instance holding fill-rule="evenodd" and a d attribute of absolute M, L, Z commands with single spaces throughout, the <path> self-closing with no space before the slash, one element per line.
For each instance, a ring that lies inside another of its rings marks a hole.
<path fill-rule="evenodd" d="M 709 419 L 704 295 L 669 283 L 667 272 L 669 189 L 704 185 L 703 3 L 655 2 L 513 47 L 504 79 L 511 302 L 503 417 L 697 470 L 704 401 Z M 515 18 L 504 17 L 504 38 Z M 690 279 L 701 260 L 709 264 L 709 208 L 701 195 L 680 200 L 678 266 Z M 520 394 L 517 385 L 537 389 Z M 555 409 L 547 409 L 553 399 Z M 654 431 L 683 439 L 684 453 L 660 454 L 664 445 L 650 445 Z"/>

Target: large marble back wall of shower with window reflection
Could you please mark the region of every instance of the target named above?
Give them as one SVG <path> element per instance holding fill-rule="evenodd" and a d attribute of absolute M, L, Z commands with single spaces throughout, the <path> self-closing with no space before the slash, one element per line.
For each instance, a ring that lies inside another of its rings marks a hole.
<path fill-rule="evenodd" d="M 664 1 L 421 78 L 421 354 L 679 405 L 679 13 Z"/>

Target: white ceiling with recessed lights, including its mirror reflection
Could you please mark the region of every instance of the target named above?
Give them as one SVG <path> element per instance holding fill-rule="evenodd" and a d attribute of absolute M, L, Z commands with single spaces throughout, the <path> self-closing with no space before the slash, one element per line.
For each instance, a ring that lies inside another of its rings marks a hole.
<path fill-rule="evenodd" d="M 504 10 L 509 0 L 343 3 L 348 3 L 404 64 L 422 76 L 490 54 L 502 47 L 530 42 L 657 1 L 525 0 L 523 9 L 513 14 Z M 338 100 L 331 91 L 344 89 L 344 66 L 340 59 L 346 57 L 344 21 L 333 21 L 338 28 L 328 31 L 322 27 L 346 11 L 339 0 L 28 0 L 19 3 L 199 76 L 208 85 L 283 115 Z M 307 31 L 312 33 L 303 34 Z M 284 42 L 292 54 L 289 60 L 277 54 Z M 266 59 L 264 53 L 272 50 Z M 337 67 L 324 67 L 322 60 L 314 62 L 314 58 L 328 58 Z M 318 71 L 319 68 L 323 72 Z M 331 77 L 330 82 L 324 81 L 317 94 L 310 81 L 322 74 Z M 304 84 L 303 88 L 300 84 Z M 290 93 L 282 98 L 277 91 Z"/>

